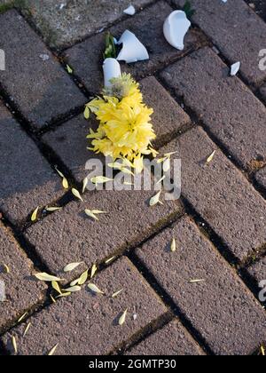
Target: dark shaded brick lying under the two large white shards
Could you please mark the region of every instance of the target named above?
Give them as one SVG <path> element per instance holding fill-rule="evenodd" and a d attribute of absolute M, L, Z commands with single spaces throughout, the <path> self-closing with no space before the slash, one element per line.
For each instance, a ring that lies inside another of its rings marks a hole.
<path fill-rule="evenodd" d="M 126 29 L 129 29 L 145 44 L 150 54 L 150 60 L 122 65 L 123 70 L 134 75 L 137 80 L 184 55 L 184 52 L 197 48 L 201 43 L 198 33 L 191 30 L 186 36 L 183 52 L 171 47 L 162 33 L 163 22 L 170 12 L 172 12 L 172 8 L 161 1 L 135 17 L 110 28 L 110 32 L 116 37 L 120 37 Z M 66 60 L 69 65 L 74 67 L 75 75 L 78 75 L 82 83 L 93 93 L 98 93 L 103 88 L 101 66 L 105 50 L 105 36 L 105 33 L 92 36 L 66 51 Z"/>

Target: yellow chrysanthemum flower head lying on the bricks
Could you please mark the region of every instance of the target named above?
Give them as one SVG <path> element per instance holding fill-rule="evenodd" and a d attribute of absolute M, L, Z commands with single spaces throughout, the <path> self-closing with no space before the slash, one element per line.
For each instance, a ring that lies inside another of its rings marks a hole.
<path fill-rule="evenodd" d="M 107 95 L 111 92 L 116 96 Z M 104 93 L 103 98 L 87 104 L 99 121 L 98 131 L 90 130 L 88 136 L 92 149 L 113 160 L 127 159 L 137 171 L 142 171 L 143 156 L 155 153 L 151 145 L 156 139 L 151 123 L 153 109 L 145 106 L 139 85 L 130 75 L 113 79 L 111 88 Z"/>

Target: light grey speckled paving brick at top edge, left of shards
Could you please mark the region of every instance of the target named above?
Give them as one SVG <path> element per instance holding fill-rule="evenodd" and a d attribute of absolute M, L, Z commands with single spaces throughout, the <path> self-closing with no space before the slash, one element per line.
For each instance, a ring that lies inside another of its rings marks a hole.
<path fill-rule="evenodd" d="M 24 11 L 29 13 L 37 28 L 52 46 L 74 44 L 85 36 L 106 28 L 120 20 L 129 3 L 137 9 L 153 0 L 24 0 Z M 61 9 L 60 7 L 63 6 Z"/>

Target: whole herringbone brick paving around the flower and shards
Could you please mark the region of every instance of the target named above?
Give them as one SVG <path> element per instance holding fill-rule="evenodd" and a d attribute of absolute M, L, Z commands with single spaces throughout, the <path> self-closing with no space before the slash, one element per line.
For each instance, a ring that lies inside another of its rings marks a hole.
<path fill-rule="evenodd" d="M 266 26 L 259 2 L 253 9 L 243 0 L 192 0 L 193 27 L 178 52 L 162 25 L 183 0 L 133 1 L 134 17 L 123 14 L 123 0 L 25 0 L 11 11 L 5 4 L 12 2 L 0 1 L 0 285 L 7 296 L 0 355 L 16 353 L 12 337 L 26 355 L 57 344 L 56 354 L 246 355 L 266 343 L 257 289 L 266 280 L 266 71 L 258 66 Z M 155 147 L 181 158 L 181 201 L 151 208 L 155 191 L 128 190 L 87 191 L 79 202 L 62 187 L 55 166 L 81 190 L 85 163 L 95 157 L 85 136 L 96 123 L 84 120 L 82 107 L 102 88 L 103 28 L 116 37 L 129 28 L 150 53 L 122 69 L 154 108 Z M 237 60 L 240 73 L 231 77 Z M 30 222 L 36 207 L 61 204 Z M 93 221 L 85 209 L 106 214 Z M 76 261 L 81 266 L 63 273 Z M 66 285 L 93 264 L 90 282 L 105 295 L 84 285 L 54 304 L 55 292 L 34 277 L 58 274 Z"/>

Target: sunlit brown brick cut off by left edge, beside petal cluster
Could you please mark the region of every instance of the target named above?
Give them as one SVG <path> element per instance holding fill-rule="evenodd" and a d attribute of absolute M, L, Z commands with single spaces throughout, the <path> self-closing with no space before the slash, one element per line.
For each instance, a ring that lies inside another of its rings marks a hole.
<path fill-rule="evenodd" d="M 8 266 L 10 273 L 6 273 Z M 0 223 L 0 281 L 5 285 L 6 301 L 0 301 L 0 331 L 3 332 L 20 316 L 43 301 L 46 286 L 33 281 L 33 265 Z"/>

